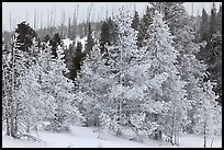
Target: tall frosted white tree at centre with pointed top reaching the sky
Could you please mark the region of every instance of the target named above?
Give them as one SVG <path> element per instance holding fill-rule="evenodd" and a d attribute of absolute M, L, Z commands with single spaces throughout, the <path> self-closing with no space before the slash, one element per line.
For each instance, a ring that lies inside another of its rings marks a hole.
<path fill-rule="evenodd" d="M 119 38 L 115 45 L 107 46 L 109 56 L 104 73 L 110 86 L 101 120 L 102 126 L 119 136 L 125 126 L 131 126 L 132 115 L 139 111 L 143 99 L 139 60 L 143 51 L 137 49 L 137 31 L 132 28 L 130 12 L 121 9 L 114 22 Z"/>

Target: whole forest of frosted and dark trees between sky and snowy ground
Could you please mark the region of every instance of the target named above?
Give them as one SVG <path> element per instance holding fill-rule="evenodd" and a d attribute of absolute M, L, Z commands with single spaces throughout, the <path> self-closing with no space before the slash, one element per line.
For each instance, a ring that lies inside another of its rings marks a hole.
<path fill-rule="evenodd" d="M 193 16 L 182 4 L 2 31 L 2 132 L 38 141 L 31 130 L 79 125 L 172 146 L 202 135 L 209 147 L 222 135 L 222 5 Z"/>

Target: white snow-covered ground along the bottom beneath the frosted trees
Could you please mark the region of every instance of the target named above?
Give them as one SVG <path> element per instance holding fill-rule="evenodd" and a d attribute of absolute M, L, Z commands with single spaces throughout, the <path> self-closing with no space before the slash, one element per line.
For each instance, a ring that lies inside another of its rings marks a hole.
<path fill-rule="evenodd" d="M 29 140 L 16 140 L 2 135 L 2 148 L 169 148 L 168 142 L 156 140 L 144 140 L 136 142 L 124 138 L 116 138 L 112 135 L 102 135 L 99 137 L 98 131 L 90 127 L 71 127 L 69 134 L 55 134 L 49 131 L 38 131 L 34 136 L 42 139 L 44 142 L 35 142 Z M 211 143 L 211 140 L 209 140 Z M 192 135 L 184 135 L 180 138 L 181 148 L 202 148 L 203 138 Z M 222 137 L 217 137 L 213 141 L 213 147 L 222 148 Z"/>

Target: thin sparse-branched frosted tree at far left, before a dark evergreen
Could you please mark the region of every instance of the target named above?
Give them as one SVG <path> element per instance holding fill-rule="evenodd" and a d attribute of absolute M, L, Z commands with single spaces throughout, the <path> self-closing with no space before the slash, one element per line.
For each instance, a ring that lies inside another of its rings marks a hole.
<path fill-rule="evenodd" d="M 18 91 L 21 86 L 21 77 L 24 74 L 25 68 L 27 68 L 27 54 L 21 50 L 22 43 L 18 42 L 19 34 L 15 33 L 11 39 L 11 49 L 8 56 L 8 67 L 7 69 L 7 78 L 9 91 L 7 93 L 7 134 L 8 136 L 12 136 L 13 138 L 19 138 L 19 131 L 21 128 L 19 127 L 20 123 L 20 100 L 16 96 Z"/>

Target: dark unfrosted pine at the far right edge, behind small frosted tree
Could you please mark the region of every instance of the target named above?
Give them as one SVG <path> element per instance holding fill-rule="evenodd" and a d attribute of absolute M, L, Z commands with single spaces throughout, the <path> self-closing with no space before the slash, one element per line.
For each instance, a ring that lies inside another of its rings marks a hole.
<path fill-rule="evenodd" d="M 203 21 L 203 15 L 202 15 L 202 21 Z M 221 101 L 222 81 L 220 79 L 220 74 L 222 70 L 219 69 L 220 67 L 222 67 L 221 65 L 222 50 L 220 50 L 222 47 L 221 39 L 222 39 L 222 35 L 217 32 L 217 28 L 216 28 L 216 8 L 215 8 L 215 4 L 213 3 L 213 7 L 211 9 L 211 18 L 209 20 L 209 30 L 208 30 L 208 36 L 205 39 L 206 43 L 204 47 L 201 47 L 197 57 L 199 60 L 202 60 L 208 66 L 206 71 L 209 72 L 209 76 L 204 78 L 204 80 L 206 81 L 211 80 L 212 82 L 219 83 L 214 90 L 220 95 L 217 101 L 222 103 Z"/>

